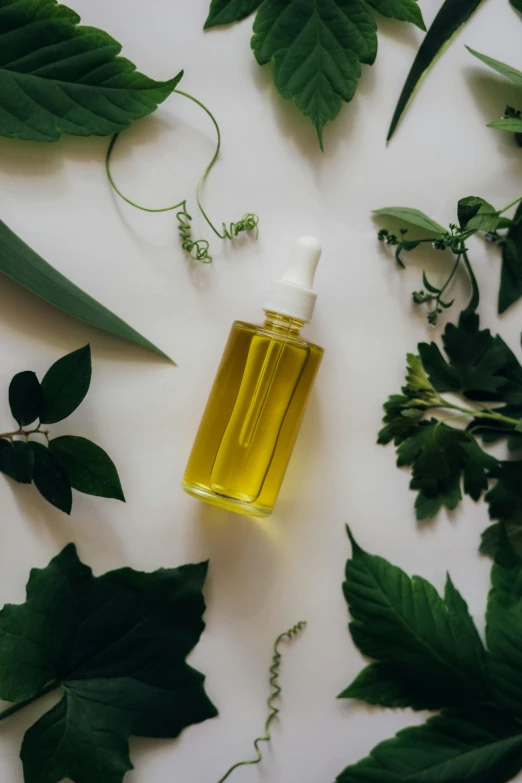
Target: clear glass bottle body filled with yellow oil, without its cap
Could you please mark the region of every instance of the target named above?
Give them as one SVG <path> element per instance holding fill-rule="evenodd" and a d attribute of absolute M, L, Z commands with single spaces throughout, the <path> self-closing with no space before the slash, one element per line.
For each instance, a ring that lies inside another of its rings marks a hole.
<path fill-rule="evenodd" d="M 254 517 L 272 513 L 323 356 L 302 321 L 266 316 L 233 324 L 183 479 L 189 494 Z"/>

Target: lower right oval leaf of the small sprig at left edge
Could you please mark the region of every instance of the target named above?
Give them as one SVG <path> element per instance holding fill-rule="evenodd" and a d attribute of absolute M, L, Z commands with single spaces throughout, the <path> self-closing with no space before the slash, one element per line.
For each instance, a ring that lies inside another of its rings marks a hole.
<path fill-rule="evenodd" d="M 64 435 L 49 448 L 64 466 L 73 489 L 87 495 L 125 501 L 120 478 L 109 455 L 87 438 Z"/>

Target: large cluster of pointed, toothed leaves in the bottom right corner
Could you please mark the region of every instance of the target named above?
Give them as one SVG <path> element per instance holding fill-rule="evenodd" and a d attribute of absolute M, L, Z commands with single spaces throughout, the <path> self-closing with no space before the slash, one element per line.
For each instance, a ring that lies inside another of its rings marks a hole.
<path fill-rule="evenodd" d="M 522 770 L 522 560 L 501 536 L 486 646 L 448 575 L 444 595 L 352 541 L 344 595 L 354 643 L 372 659 L 341 694 L 440 710 L 347 767 L 337 783 L 506 783 Z"/>

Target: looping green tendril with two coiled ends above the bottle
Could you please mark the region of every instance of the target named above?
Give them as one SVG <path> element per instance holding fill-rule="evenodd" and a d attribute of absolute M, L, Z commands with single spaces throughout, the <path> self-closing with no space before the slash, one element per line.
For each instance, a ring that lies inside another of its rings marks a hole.
<path fill-rule="evenodd" d="M 221 149 L 221 131 L 219 129 L 219 125 L 217 123 L 216 118 L 214 117 L 210 109 L 207 109 L 207 107 L 204 104 L 202 104 L 201 101 L 198 101 L 197 98 L 194 98 L 194 96 L 189 95 L 188 93 L 183 92 L 182 90 L 174 90 L 174 92 L 176 92 L 178 95 L 183 95 L 184 98 L 188 98 L 190 101 L 197 104 L 201 109 L 203 109 L 203 111 L 206 114 L 208 114 L 208 116 L 212 120 L 212 123 L 217 133 L 216 151 L 212 157 L 212 160 L 210 161 L 205 171 L 199 178 L 197 188 L 196 188 L 196 201 L 201 214 L 207 221 L 212 231 L 220 239 L 233 239 L 234 237 L 237 237 L 242 232 L 248 232 L 248 231 L 255 231 L 256 239 L 257 239 L 259 218 L 257 215 L 253 214 L 252 212 L 247 212 L 246 215 L 243 215 L 241 220 L 238 220 L 237 223 L 230 223 L 228 227 L 226 223 L 223 223 L 221 233 L 214 226 L 209 216 L 205 212 L 203 205 L 201 203 L 201 188 L 203 187 L 206 178 L 210 174 L 216 160 L 218 159 L 219 152 Z M 204 264 L 209 264 L 212 261 L 212 256 L 209 254 L 210 245 L 208 241 L 206 239 L 192 238 L 192 225 L 191 225 L 192 216 L 189 215 L 187 211 L 186 199 L 184 201 L 180 201 L 179 204 L 173 204 L 170 207 L 151 209 L 150 207 L 143 207 L 141 206 L 141 204 L 136 204 L 134 201 L 131 201 L 131 199 L 127 198 L 127 196 L 125 196 L 118 188 L 111 172 L 111 156 L 119 136 L 120 136 L 119 133 L 115 133 L 114 136 L 112 137 L 105 158 L 105 169 L 107 171 L 107 177 L 109 178 L 109 182 L 112 188 L 115 190 L 115 192 L 118 194 L 120 198 L 122 198 L 124 201 L 127 202 L 127 204 L 130 204 L 132 207 L 135 207 L 136 209 L 141 209 L 143 212 L 171 212 L 174 209 L 178 209 L 179 212 L 176 213 L 176 218 L 179 223 L 178 232 L 179 232 L 179 237 L 183 250 L 185 250 L 185 252 L 188 253 L 196 261 L 202 261 Z"/>

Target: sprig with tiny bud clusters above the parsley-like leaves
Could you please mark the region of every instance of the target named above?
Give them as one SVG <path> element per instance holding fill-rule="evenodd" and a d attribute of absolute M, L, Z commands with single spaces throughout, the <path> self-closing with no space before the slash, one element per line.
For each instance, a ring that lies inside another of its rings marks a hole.
<path fill-rule="evenodd" d="M 512 218 L 504 213 L 510 207 L 518 204 Z M 424 288 L 414 291 L 412 298 L 415 304 L 428 305 L 428 321 L 437 322 L 443 309 L 451 307 L 454 300 L 446 297 L 455 276 L 465 267 L 470 278 L 472 295 L 468 310 L 476 310 L 479 304 L 479 291 L 468 255 L 466 242 L 475 234 L 481 233 L 488 242 L 497 244 L 502 251 L 502 268 L 498 292 L 498 312 L 505 312 L 522 297 L 522 198 L 516 199 L 502 209 L 496 209 L 488 201 L 479 196 L 466 196 L 457 205 L 457 223 L 445 229 L 435 220 L 418 209 L 411 207 L 385 207 L 374 210 L 379 217 L 389 217 L 406 223 L 422 232 L 420 238 L 412 239 L 408 228 L 401 228 L 400 235 L 381 229 L 378 239 L 395 247 L 395 258 L 399 267 L 404 269 L 404 252 L 411 252 L 421 245 L 431 245 L 437 251 L 450 251 L 453 265 L 445 280 L 440 285 L 434 285 L 423 272 Z M 425 234 L 429 236 L 426 237 Z"/>

